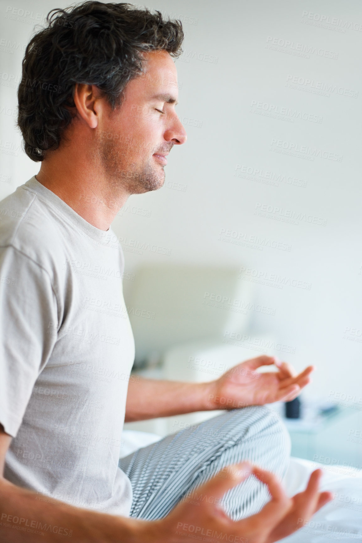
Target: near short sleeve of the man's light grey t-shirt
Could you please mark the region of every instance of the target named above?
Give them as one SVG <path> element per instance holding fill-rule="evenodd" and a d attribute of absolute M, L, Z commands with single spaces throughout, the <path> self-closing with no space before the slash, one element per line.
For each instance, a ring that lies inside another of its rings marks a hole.
<path fill-rule="evenodd" d="M 34 383 L 57 340 L 58 305 L 47 271 L 0 247 L 0 423 L 16 437 Z"/>

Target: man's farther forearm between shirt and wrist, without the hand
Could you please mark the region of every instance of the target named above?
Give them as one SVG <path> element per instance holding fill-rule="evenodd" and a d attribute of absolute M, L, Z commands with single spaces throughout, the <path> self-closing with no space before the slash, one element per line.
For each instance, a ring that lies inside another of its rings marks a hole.
<path fill-rule="evenodd" d="M 209 411 L 211 383 L 182 383 L 140 378 L 129 381 L 125 422 Z"/>

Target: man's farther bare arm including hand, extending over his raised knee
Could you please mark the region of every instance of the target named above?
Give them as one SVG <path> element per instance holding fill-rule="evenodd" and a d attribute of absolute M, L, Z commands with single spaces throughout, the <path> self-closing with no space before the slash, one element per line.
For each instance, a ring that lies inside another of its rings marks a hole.
<path fill-rule="evenodd" d="M 260 366 L 272 364 L 278 371 L 255 371 Z M 289 364 L 262 355 L 236 365 L 207 383 L 130 379 L 124 421 L 290 401 L 309 383 L 311 371 L 313 367 L 309 366 L 295 375 Z"/>

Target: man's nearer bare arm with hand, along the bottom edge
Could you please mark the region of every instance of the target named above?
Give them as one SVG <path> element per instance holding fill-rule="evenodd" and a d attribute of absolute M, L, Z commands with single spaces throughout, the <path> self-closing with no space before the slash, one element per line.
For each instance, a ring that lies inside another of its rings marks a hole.
<path fill-rule="evenodd" d="M 64 542 L 65 536 L 76 543 L 185 543 L 194 531 L 214 534 L 215 543 L 245 538 L 249 543 L 273 543 L 302 527 L 332 499 L 330 493 L 318 492 L 321 470 L 311 475 L 304 493 L 288 498 L 271 473 L 242 463 L 221 470 L 196 489 L 196 501 L 194 495 L 192 500 L 181 500 L 164 519 L 143 521 L 107 515 L 48 497 L 39 501 L 38 494 L 4 479 L 10 442 L 10 435 L 0 425 L 0 540 L 7 543 L 38 543 L 39 532 L 43 543 Z M 222 497 L 251 473 L 267 484 L 272 500 L 257 515 L 234 522 L 220 508 Z"/>

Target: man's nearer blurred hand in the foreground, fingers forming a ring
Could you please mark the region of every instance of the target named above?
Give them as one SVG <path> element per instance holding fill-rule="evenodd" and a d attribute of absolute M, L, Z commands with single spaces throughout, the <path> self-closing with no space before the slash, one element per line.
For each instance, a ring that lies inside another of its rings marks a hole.
<path fill-rule="evenodd" d="M 265 483 L 271 501 L 256 515 L 233 521 L 220 502 L 223 495 L 253 473 Z M 273 543 L 301 528 L 324 504 L 333 499 L 329 492 L 319 493 L 322 471 L 314 471 L 304 492 L 288 498 L 277 477 L 248 462 L 222 469 L 206 483 L 180 501 L 164 519 L 153 525 L 147 541 L 181 543 L 195 539 Z M 147 527 L 145 527 L 147 529 Z M 149 527 L 148 527 L 149 529 Z M 199 538 L 197 537 L 199 536 Z"/>

